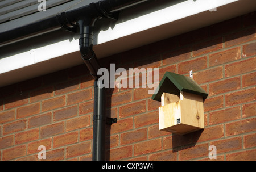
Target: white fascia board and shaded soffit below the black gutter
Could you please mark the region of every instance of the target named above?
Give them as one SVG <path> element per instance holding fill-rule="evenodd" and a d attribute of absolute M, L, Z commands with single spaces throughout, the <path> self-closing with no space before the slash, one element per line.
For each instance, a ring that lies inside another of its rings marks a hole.
<path fill-rule="evenodd" d="M 169 6 L 133 16 L 121 12 L 115 26 L 94 33 L 98 58 L 209 26 L 256 10 L 255 0 L 171 1 Z M 216 11 L 215 11 L 216 10 Z M 212 11 L 212 12 L 210 12 Z M 134 41 L 135 40 L 135 41 Z M 19 49 L 16 47 L 18 45 Z M 0 48 L 0 87 L 82 64 L 74 33 L 55 31 Z"/>

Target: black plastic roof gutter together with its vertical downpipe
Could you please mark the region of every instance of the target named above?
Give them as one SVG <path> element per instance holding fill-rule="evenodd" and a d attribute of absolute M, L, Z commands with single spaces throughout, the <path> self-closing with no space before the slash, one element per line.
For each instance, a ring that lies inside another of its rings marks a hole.
<path fill-rule="evenodd" d="M 82 59 L 94 78 L 94 110 L 93 110 L 93 153 L 92 159 L 105 160 L 105 124 L 116 123 L 117 119 L 105 116 L 105 88 L 99 87 L 97 75 L 100 64 L 93 51 L 93 27 L 97 19 L 110 18 L 117 20 L 118 11 L 147 0 L 104 0 L 90 3 L 79 9 L 61 12 L 39 22 L 15 28 L 14 30 L 0 33 L 0 44 L 24 37 L 43 30 L 62 27 L 65 30 L 76 32 L 79 27 L 79 46 Z M 113 12 L 114 11 L 114 12 Z"/>

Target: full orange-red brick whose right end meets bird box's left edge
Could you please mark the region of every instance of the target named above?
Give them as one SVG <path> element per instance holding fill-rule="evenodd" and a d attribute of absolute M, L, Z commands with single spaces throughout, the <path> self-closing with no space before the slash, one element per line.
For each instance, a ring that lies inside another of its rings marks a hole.
<path fill-rule="evenodd" d="M 135 128 L 158 123 L 158 111 L 147 112 L 146 114 L 134 116 Z"/>

